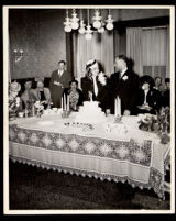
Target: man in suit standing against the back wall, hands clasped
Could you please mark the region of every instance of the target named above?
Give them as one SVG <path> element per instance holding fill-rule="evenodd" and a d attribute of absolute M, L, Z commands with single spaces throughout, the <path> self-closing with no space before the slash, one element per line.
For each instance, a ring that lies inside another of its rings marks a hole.
<path fill-rule="evenodd" d="M 64 88 L 69 87 L 72 80 L 70 75 L 66 71 L 66 62 L 61 60 L 58 63 L 58 69 L 52 73 L 50 89 L 53 101 L 53 107 L 61 108 L 61 100 Z"/>

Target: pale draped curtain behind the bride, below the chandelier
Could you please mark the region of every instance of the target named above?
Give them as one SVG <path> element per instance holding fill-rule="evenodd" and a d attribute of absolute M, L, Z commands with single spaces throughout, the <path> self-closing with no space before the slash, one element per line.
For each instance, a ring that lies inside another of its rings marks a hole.
<path fill-rule="evenodd" d="M 85 40 L 85 35 L 74 33 L 73 48 L 74 76 L 78 81 L 85 77 L 89 59 L 97 59 L 108 76 L 114 71 L 113 33 L 94 33 L 92 40 Z"/>

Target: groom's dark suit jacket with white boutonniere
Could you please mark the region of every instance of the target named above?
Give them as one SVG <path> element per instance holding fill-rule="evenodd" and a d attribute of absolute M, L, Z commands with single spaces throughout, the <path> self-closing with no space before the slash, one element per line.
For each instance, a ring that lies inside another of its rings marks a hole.
<path fill-rule="evenodd" d="M 120 77 L 120 73 L 114 73 L 109 79 L 108 88 L 111 113 L 114 113 L 114 98 L 119 96 L 121 99 L 122 113 L 128 109 L 131 111 L 131 114 L 134 114 L 138 101 L 139 76 L 130 69 L 128 69 L 122 77 Z"/>

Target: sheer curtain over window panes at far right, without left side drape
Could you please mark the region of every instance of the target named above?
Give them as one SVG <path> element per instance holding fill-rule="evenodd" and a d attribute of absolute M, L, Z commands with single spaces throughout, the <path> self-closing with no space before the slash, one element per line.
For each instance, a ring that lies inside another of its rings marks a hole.
<path fill-rule="evenodd" d="M 166 77 L 168 43 L 166 27 L 148 27 L 142 32 L 143 71 L 152 77 Z"/>

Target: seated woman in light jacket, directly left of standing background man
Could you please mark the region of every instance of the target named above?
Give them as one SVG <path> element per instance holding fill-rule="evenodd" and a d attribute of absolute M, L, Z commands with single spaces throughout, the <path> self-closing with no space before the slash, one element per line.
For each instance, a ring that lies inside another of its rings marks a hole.
<path fill-rule="evenodd" d="M 44 78 L 37 77 L 35 78 L 36 88 L 31 91 L 32 98 L 34 101 L 41 101 L 45 108 L 51 106 L 51 91 L 48 88 L 44 87 Z"/>

